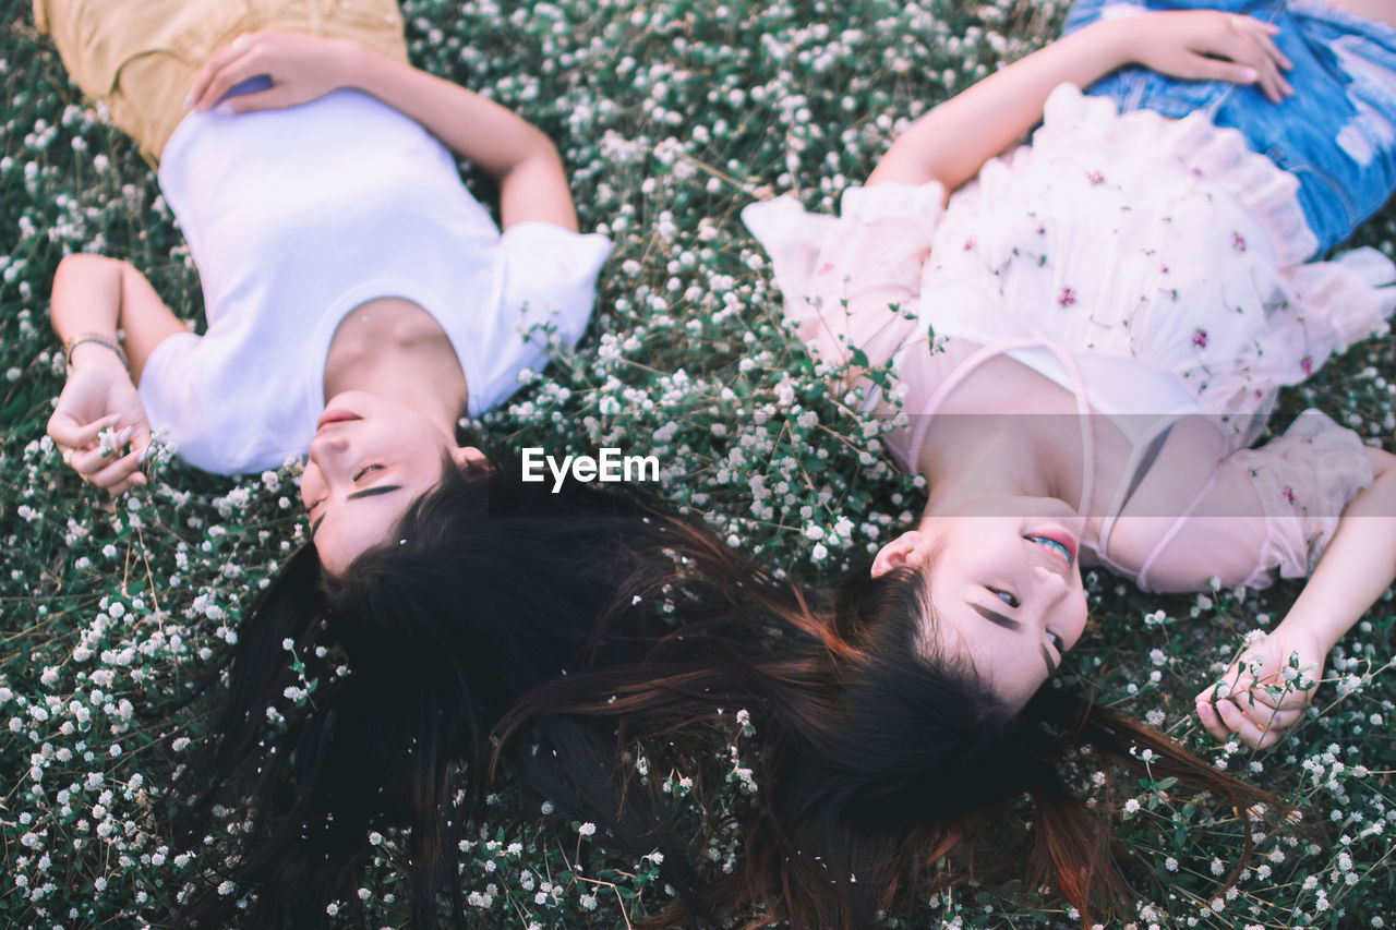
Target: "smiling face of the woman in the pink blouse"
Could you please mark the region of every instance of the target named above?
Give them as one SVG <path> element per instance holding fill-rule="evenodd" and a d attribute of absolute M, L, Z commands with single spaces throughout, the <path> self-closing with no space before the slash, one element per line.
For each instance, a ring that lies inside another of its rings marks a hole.
<path fill-rule="evenodd" d="M 884 546 L 872 574 L 924 568 L 934 612 L 928 645 L 967 660 L 1020 708 L 1086 628 L 1081 522 L 1069 511 L 938 517 Z"/>

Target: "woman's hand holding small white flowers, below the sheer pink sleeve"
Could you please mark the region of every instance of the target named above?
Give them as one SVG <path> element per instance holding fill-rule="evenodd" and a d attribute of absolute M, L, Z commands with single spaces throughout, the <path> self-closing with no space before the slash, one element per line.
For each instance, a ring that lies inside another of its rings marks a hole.
<path fill-rule="evenodd" d="M 1269 748 L 1304 718 L 1323 677 L 1328 647 L 1314 633 L 1280 624 L 1241 651 L 1222 679 L 1196 697 L 1208 733 L 1231 733 L 1251 748 Z"/>

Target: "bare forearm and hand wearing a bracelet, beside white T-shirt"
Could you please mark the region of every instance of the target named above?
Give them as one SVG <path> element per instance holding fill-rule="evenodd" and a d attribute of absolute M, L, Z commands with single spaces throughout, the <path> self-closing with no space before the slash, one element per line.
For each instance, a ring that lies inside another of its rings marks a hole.
<path fill-rule="evenodd" d="M 140 457 L 151 430 L 135 384 L 151 352 L 166 337 L 184 332 L 151 283 L 124 261 L 102 256 L 68 256 L 53 276 L 53 331 L 73 345 L 68 380 L 49 418 L 49 436 L 85 480 L 120 494 L 145 483 Z M 123 331 L 126 363 L 110 346 Z M 96 337 L 91 341 L 82 341 Z M 103 429 L 119 430 L 128 454 L 112 458 L 99 448 Z"/>

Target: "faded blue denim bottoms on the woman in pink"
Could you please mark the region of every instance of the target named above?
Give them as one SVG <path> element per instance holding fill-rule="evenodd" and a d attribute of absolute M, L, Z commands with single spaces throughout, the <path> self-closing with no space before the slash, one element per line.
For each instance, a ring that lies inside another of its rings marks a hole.
<path fill-rule="evenodd" d="M 1300 180 L 1300 205 L 1318 236 L 1315 254 L 1347 239 L 1396 187 L 1396 29 L 1333 7 L 1284 0 L 1078 0 L 1067 32 L 1111 7 L 1220 8 L 1280 27 L 1275 43 L 1294 67 L 1294 96 L 1272 103 L 1252 85 L 1184 81 L 1143 67 L 1110 74 L 1087 94 L 1121 110 L 1180 117 L 1208 113 Z"/>

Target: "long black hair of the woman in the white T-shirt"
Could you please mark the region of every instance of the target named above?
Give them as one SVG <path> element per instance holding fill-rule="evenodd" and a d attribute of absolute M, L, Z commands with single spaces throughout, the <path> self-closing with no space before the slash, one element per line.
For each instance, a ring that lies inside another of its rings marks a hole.
<path fill-rule="evenodd" d="M 251 799 L 254 829 L 226 876 L 257 891 L 240 919 L 320 926 L 329 902 L 357 908 L 369 832 L 399 827 L 413 924 L 434 926 L 443 891 L 462 922 L 459 831 L 483 799 L 494 723 L 588 662 L 596 619 L 644 584 L 627 580 L 669 525 L 630 496 L 524 483 L 510 461 L 445 462 L 341 578 L 311 545 L 296 552 L 212 670 L 226 700 L 180 783 L 188 843 L 215 804 Z M 183 920 L 222 926 L 237 896 L 204 890 Z"/>

